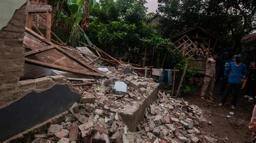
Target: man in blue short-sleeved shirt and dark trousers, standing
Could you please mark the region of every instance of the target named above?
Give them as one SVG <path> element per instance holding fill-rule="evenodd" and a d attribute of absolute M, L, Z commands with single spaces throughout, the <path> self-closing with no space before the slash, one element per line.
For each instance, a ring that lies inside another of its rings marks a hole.
<path fill-rule="evenodd" d="M 242 55 L 238 54 L 237 56 L 235 56 L 235 62 L 230 63 L 230 75 L 228 77 L 227 87 L 219 106 L 223 106 L 223 104 L 227 100 L 228 93 L 233 89 L 234 94 L 233 94 L 231 109 L 235 109 L 235 105 L 237 105 L 239 90 L 242 84 L 242 75 L 245 73 L 246 73 L 246 65 L 242 63 Z"/>

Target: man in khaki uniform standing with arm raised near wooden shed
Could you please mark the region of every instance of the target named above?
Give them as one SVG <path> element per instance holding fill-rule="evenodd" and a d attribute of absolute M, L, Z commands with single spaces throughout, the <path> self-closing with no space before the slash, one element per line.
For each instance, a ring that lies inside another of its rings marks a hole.
<path fill-rule="evenodd" d="M 212 53 L 212 58 L 208 58 L 206 62 L 206 72 L 205 72 L 205 78 L 204 78 L 204 85 L 201 90 L 201 99 L 205 99 L 205 92 L 208 87 L 209 89 L 209 95 L 207 96 L 211 101 L 213 101 L 212 93 L 214 88 L 214 82 L 215 82 L 215 65 L 216 65 L 216 59 L 217 59 L 217 53 Z"/>

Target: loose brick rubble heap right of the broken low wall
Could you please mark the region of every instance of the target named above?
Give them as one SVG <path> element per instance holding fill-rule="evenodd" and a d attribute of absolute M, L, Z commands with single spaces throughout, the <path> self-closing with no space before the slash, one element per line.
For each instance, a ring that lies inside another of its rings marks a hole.
<path fill-rule="evenodd" d="M 218 141 L 201 133 L 203 110 L 185 102 L 182 98 L 169 98 L 169 94 L 159 92 L 158 99 L 145 111 L 145 119 L 136 133 L 137 141 L 156 142 L 198 142 Z"/>

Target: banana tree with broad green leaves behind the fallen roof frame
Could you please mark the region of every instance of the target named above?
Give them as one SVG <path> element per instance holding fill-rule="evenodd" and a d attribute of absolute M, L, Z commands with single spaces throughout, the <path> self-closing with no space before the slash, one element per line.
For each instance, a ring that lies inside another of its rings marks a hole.
<path fill-rule="evenodd" d="M 79 25 L 83 19 L 85 1 L 86 0 L 68 0 L 67 4 L 70 15 L 65 15 L 62 12 L 58 15 L 58 17 L 64 18 L 65 21 L 72 26 L 69 39 L 71 46 L 79 46 L 79 41 L 87 42 L 87 44 L 92 45 L 92 42 Z"/>

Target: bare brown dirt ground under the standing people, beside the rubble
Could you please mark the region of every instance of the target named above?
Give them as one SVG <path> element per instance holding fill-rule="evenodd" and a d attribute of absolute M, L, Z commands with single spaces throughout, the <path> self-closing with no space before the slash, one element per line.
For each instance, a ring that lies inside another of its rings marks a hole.
<path fill-rule="evenodd" d="M 204 123 L 203 131 L 210 132 L 215 137 L 221 140 L 225 139 L 228 142 L 251 142 L 251 131 L 248 129 L 254 108 L 254 101 L 248 101 L 244 98 L 245 91 L 240 91 L 238 104 L 235 110 L 231 109 L 232 97 L 229 97 L 223 107 L 219 107 L 221 95 L 218 95 L 218 84 L 215 84 L 214 103 L 205 103 L 199 100 L 201 88 L 194 91 L 192 95 L 183 96 L 185 101 L 198 105 L 204 109 L 204 117 L 206 120 L 211 121 L 213 124 L 208 125 Z M 234 112 L 231 118 L 227 118 L 230 112 Z"/>

